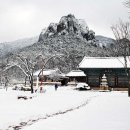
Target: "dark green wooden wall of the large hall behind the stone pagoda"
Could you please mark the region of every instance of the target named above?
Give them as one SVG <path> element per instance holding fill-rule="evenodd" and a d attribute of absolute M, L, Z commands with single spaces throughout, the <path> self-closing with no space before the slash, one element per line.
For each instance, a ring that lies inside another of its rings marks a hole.
<path fill-rule="evenodd" d="M 100 82 L 103 74 L 106 75 L 108 86 L 112 88 L 127 88 L 128 87 L 128 76 L 126 75 L 126 69 L 114 69 L 114 68 L 84 68 L 86 76 L 86 83 L 91 87 L 100 87 Z"/>

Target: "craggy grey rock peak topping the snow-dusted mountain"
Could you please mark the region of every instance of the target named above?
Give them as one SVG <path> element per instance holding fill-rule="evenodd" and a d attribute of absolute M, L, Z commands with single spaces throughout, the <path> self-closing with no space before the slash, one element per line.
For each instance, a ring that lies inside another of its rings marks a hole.
<path fill-rule="evenodd" d="M 68 14 L 61 17 L 59 23 L 50 23 L 46 31 L 40 34 L 39 41 L 47 37 L 74 34 L 87 41 L 95 39 L 95 33 L 89 30 L 86 22 L 76 19 L 74 15 Z"/>

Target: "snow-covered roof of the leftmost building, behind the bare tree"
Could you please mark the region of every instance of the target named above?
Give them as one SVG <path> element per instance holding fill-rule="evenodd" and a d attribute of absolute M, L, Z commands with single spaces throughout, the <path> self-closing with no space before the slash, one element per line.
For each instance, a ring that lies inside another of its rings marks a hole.
<path fill-rule="evenodd" d="M 41 70 L 38 70 L 33 75 L 38 76 L 40 72 L 41 72 Z M 40 73 L 40 75 L 49 76 L 49 75 L 52 75 L 54 73 L 62 74 L 58 68 L 55 68 L 55 69 L 44 69 L 43 72 Z"/>

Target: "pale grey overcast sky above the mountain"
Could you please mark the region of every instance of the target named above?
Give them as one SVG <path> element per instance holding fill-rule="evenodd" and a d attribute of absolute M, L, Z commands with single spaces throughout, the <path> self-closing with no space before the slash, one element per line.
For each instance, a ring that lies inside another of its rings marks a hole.
<path fill-rule="evenodd" d="M 0 0 L 0 42 L 39 35 L 51 22 L 74 14 L 96 35 L 113 37 L 110 26 L 128 19 L 124 0 Z"/>

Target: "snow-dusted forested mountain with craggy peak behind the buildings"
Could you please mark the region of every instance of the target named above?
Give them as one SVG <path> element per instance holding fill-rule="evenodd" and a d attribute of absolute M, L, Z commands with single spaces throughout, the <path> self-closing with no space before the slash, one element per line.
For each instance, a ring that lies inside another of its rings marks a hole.
<path fill-rule="evenodd" d="M 43 29 L 39 38 L 16 41 L 9 44 L 12 46 L 8 48 L 21 48 L 15 51 L 15 54 L 30 57 L 32 60 L 36 60 L 36 56 L 41 54 L 44 58 L 62 55 L 60 59 L 51 59 L 46 68 L 58 67 L 62 72 L 67 73 L 77 69 L 84 56 L 113 56 L 111 44 L 114 44 L 113 39 L 95 36 L 95 32 L 89 29 L 84 20 L 76 19 L 74 15 L 69 14 L 63 16 L 59 23 L 51 23 Z M 40 69 L 43 61 L 39 58 L 37 63 L 37 69 Z M 12 74 L 13 70 L 9 75 L 13 76 Z M 20 70 L 15 69 L 15 77 L 21 75 Z"/>

